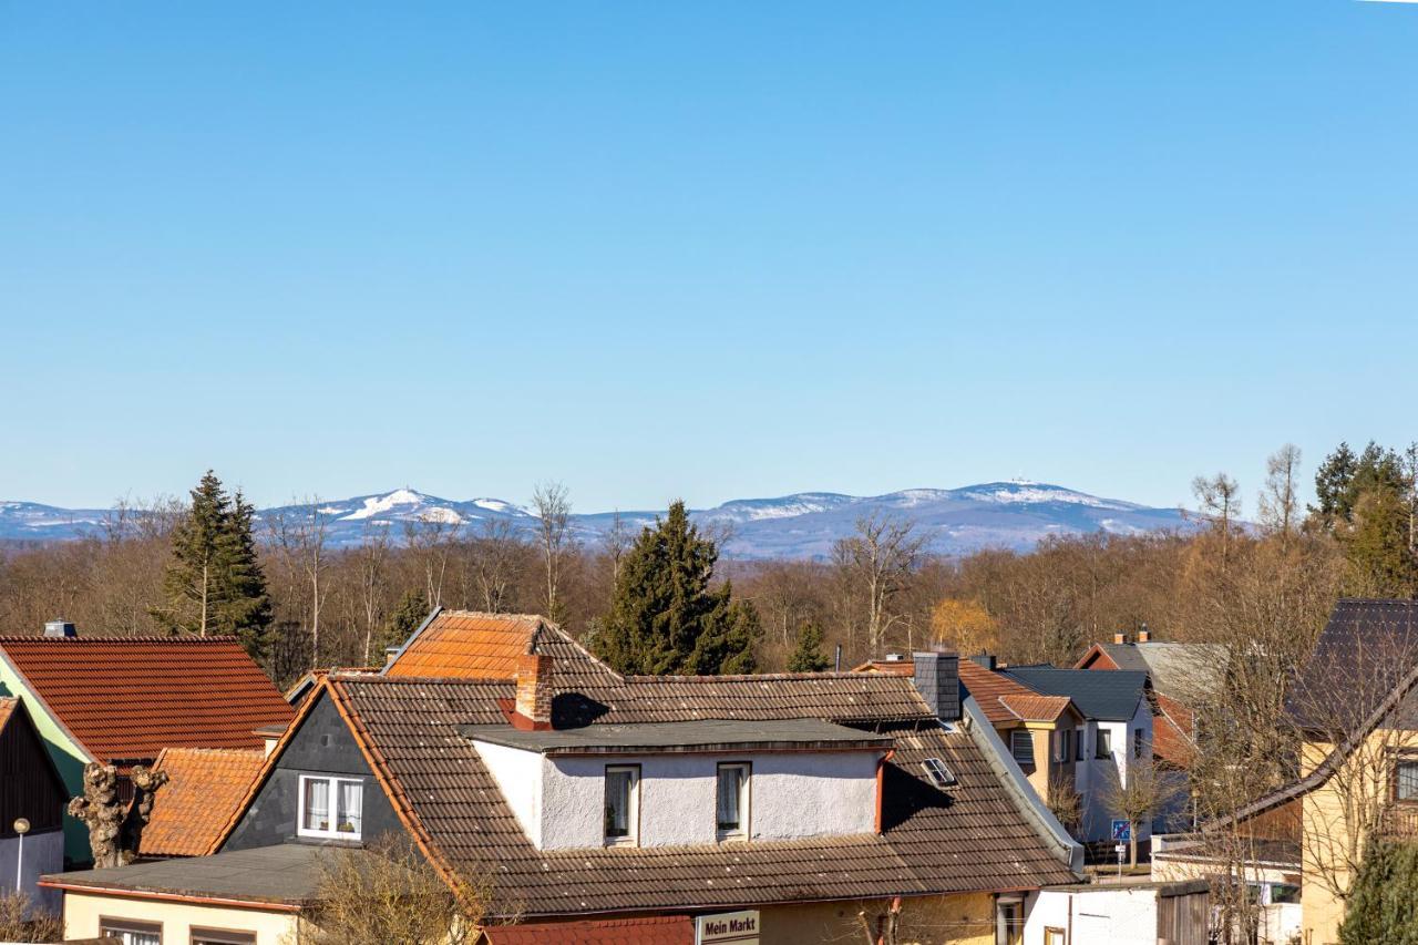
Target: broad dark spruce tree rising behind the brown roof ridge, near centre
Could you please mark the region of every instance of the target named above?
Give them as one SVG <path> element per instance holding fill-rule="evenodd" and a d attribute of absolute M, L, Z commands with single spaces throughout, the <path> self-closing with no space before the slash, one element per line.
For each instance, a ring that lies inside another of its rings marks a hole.
<path fill-rule="evenodd" d="M 625 553 L 611 612 L 597 631 L 597 656 L 621 673 L 715 675 L 752 673 L 763 634 L 759 613 L 712 587 L 719 549 L 675 502 Z"/>

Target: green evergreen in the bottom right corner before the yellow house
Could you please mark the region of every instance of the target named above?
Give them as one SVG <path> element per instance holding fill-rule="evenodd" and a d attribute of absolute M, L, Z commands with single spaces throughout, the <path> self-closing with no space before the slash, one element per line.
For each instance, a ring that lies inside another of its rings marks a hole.
<path fill-rule="evenodd" d="M 1418 945 L 1418 844 L 1370 846 L 1350 888 L 1341 945 Z"/>

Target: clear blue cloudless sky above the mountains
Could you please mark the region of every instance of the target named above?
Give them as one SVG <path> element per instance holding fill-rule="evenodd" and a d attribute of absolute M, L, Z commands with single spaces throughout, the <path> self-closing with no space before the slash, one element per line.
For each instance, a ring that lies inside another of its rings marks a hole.
<path fill-rule="evenodd" d="M 1418 6 L 0 1 L 0 498 L 1418 437 Z"/>

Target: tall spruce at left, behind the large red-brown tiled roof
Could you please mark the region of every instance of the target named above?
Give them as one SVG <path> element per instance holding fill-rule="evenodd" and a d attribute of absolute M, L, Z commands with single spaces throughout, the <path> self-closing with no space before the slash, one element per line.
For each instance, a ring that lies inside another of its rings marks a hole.
<path fill-rule="evenodd" d="M 169 633 L 237 636 L 252 658 L 262 660 L 272 614 L 252 516 L 241 494 L 228 497 L 208 470 L 173 529 L 173 555 L 163 572 L 166 606 L 152 613 Z"/>

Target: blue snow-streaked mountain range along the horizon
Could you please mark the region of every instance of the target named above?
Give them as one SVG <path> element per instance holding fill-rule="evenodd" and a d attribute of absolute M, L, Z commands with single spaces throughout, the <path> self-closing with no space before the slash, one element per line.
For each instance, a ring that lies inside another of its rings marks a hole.
<path fill-rule="evenodd" d="M 262 509 L 258 518 L 302 507 Z M 308 507 L 305 507 L 308 508 Z M 476 529 L 488 521 L 532 529 L 536 516 L 526 508 L 495 498 L 452 501 L 403 488 L 320 504 L 330 519 L 330 543 L 354 546 L 372 528 L 387 528 L 403 539 L 406 522 L 441 521 Z M 655 521 L 655 511 L 620 512 L 638 531 Z M 903 490 L 886 495 L 797 492 L 781 498 L 733 499 L 693 511 L 702 525 L 727 528 L 726 553 L 742 559 L 825 559 L 832 543 L 852 534 L 856 519 L 871 514 L 896 515 L 916 522 L 936 553 L 963 555 L 983 548 L 1032 548 L 1048 535 L 1109 532 L 1140 535 L 1185 529 L 1188 522 L 1174 508 L 1149 508 L 1136 502 L 1099 498 L 1044 482 L 983 482 L 957 490 Z M 98 531 L 106 509 L 65 509 L 37 502 L 0 501 L 0 539 L 67 541 Z M 583 541 L 597 541 L 611 528 L 614 512 L 573 516 Z"/>

